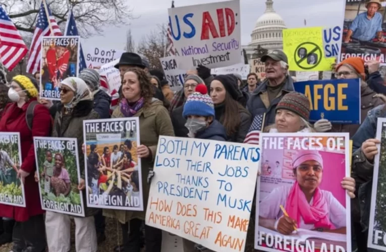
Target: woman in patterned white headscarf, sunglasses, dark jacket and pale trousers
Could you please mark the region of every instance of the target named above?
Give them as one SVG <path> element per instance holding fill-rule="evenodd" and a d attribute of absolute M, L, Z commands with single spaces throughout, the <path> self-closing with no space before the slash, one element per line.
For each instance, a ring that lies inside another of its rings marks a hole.
<path fill-rule="evenodd" d="M 85 167 L 84 155 L 82 153 L 83 145 L 83 120 L 97 119 L 99 115 L 93 110 L 93 97 L 87 84 L 80 78 L 69 77 L 63 80 L 59 87 L 61 95 L 61 104 L 58 106 L 58 112 L 55 116 L 52 137 L 76 138 L 79 152 L 79 166 L 81 180 L 78 189 L 85 194 Z M 68 174 L 63 169 L 63 157 L 55 155 L 56 174 L 58 178 L 63 179 L 67 184 Z M 60 169 L 60 174 L 58 175 Z M 57 179 L 57 192 L 63 193 L 63 182 Z M 52 181 L 51 181 L 52 183 Z M 67 185 L 66 185 L 67 186 Z M 58 191 L 59 190 L 59 191 Z M 67 192 L 68 187 L 66 187 Z M 86 206 L 86 203 L 84 203 Z M 93 215 L 97 209 L 85 207 L 86 217 L 74 217 L 75 220 L 75 247 L 77 251 L 97 250 L 97 240 Z M 70 250 L 70 215 L 47 211 L 45 215 L 45 227 L 47 231 L 47 241 L 49 251 L 67 252 Z M 60 228 L 58 228 L 60 227 Z"/>

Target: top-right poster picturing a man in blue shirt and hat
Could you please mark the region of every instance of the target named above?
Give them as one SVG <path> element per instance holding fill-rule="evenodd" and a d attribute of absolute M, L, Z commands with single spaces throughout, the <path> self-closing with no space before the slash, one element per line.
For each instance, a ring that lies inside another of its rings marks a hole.
<path fill-rule="evenodd" d="M 365 1 L 345 2 L 345 19 L 340 24 L 343 26 L 343 35 L 339 61 L 349 57 L 361 57 L 365 62 L 378 60 L 380 64 L 384 64 L 384 8 L 378 8 L 377 3 L 369 3 L 366 7 Z M 368 19 L 368 16 L 372 18 Z"/>

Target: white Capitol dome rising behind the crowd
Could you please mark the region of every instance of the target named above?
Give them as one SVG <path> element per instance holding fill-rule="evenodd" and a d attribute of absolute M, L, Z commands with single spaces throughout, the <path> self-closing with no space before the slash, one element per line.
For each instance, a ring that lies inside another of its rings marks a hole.
<path fill-rule="evenodd" d="M 273 10 L 273 1 L 266 0 L 266 9 L 257 21 L 251 33 L 251 42 L 242 46 L 245 49 L 248 61 L 256 58 L 254 49 L 260 45 L 269 51 L 283 50 L 283 29 L 287 29 L 282 17 Z"/>

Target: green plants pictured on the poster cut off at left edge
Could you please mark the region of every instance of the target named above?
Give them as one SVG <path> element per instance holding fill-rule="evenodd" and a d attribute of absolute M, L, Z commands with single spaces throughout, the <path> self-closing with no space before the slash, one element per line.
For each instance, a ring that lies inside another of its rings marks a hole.
<path fill-rule="evenodd" d="M 15 136 L 15 140 L 18 139 L 18 136 Z M 14 162 L 14 164 L 20 168 L 19 163 L 19 156 L 21 153 L 19 153 L 19 145 L 18 141 L 15 141 L 16 143 L 0 143 L 1 150 L 8 153 L 11 160 Z M 12 168 L 11 166 L 7 165 L 7 169 Z M 15 196 L 22 196 L 22 187 L 20 179 L 17 180 L 17 183 L 15 184 L 12 182 L 11 184 L 3 185 L 3 183 L 0 181 L 0 194 L 8 194 L 8 195 L 15 195 Z"/>

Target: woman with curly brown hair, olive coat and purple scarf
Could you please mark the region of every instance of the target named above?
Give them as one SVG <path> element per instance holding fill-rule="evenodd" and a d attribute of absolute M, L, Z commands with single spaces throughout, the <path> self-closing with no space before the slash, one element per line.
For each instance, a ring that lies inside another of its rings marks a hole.
<path fill-rule="evenodd" d="M 152 174 L 158 137 L 174 136 L 173 125 L 168 110 L 162 102 L 153 98 L 153 84 L 142 69 L 130 68 L 122 80 L 121 101 L 112 117 L 138 117 L 141 145 L 137 147 L 138 158 L 141 158 L 142 195 L 144 209 L 149 196 L 148 174 Z M 145 211 L 123 211 L 103 209 L 107 217 L 118 219 L 122 224 L 125 251 L 139 252 L 141 249 L 141 225 Z M 130 222 L 130 225 L 129 225 Z M 130 226 L 130 230 L 129 227 Z M 129 234 L 128 234 L 129 231 Z M 147 252 L 160 252 L 162 232 L 160 229 L 145 225 Z"/>

